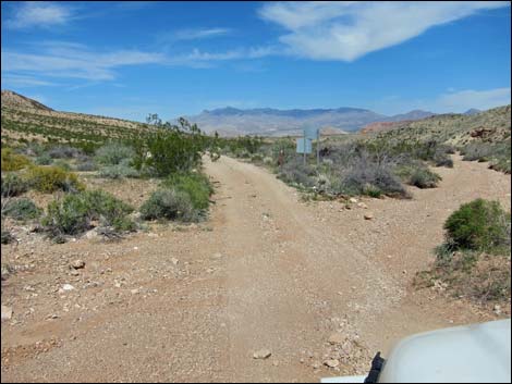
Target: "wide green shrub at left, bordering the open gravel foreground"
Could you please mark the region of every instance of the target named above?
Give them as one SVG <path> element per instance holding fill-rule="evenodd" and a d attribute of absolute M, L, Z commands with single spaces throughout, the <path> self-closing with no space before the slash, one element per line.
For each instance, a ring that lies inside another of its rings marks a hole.
<path fill-rule="evenodd" d="M 133 227 L 126 216 L 133 208 L 102 190 L 86 190 L 68 194 L 48 205 L 41 220 L 46 231 L 52 236 L 75 235 L 90 228 L 92 220 L 101 225 L 123 231 Z"/>

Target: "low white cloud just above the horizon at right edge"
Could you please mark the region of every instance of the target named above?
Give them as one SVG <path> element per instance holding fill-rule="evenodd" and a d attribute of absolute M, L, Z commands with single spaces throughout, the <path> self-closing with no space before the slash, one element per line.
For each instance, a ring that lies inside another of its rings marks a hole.
<path fill-rule="evenodd" d="M 488 90 L 461 90 L 441 95 L 435 102 L 438 111 L 465 112 L 471 108 L 487 110 L 489 108 L 510 104 L 510 88 Z"/>

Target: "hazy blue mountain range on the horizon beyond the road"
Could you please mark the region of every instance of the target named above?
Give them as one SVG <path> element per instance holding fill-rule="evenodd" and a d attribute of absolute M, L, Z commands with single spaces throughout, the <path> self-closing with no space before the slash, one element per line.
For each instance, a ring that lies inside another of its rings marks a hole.
<path fill-rule="evenodd" d="M 186 116 L 206 133 L 214 131 L 228 136 L 261 135 L 283 136 L 301 134 L 305 127 L 357 131 L 373 122 L 417 120 L 432 115 L 432 112 L 411 111 L 405 114 L 387 116 L 361 108 L 278 110 L 272 108 L 237 109 L 227 107 L 205 110 L 198 115 Z"/>

